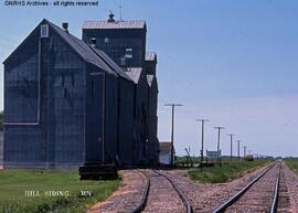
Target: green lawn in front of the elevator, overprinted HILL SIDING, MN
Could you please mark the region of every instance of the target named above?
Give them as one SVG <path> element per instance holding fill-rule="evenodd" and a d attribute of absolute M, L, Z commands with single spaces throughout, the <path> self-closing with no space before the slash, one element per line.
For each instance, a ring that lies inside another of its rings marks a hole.
<path fill-rule="evenodd" d="M 79 181 L 77 171 L 0 170 L 1 213 L 82 213 L 98 201 L 108 198 L 118 187 L 115 181 Z M 40 196 L 26 196 L 34 190 Z M 68 196 L 46 196 L 46 191 L 68 191 Z M 82 196 L 89 191 L 91 196 Z"/>

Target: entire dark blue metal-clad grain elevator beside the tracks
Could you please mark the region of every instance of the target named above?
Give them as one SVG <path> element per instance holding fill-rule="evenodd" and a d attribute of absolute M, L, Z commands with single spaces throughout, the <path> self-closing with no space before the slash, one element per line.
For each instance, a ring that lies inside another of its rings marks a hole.
<path fill-rule="evenodd" d="M 3 62 L 4 168 L 158 162 L 146 23 L 92 23 L 79 40 L 44 19 Z"/>

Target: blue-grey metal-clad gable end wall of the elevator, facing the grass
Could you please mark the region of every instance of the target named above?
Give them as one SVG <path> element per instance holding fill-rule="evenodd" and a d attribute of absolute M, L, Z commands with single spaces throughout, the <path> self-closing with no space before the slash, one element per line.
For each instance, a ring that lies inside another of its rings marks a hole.
<path fill-rule="evenodd" d="M 23 83 L 24 75 L 38 82 L 39 30 L 26 42 L 4 67 L 6 121 L 38 121 L 38 96 L 34 92 L 38 83 L 29 84 L 34 89 L 20 93 L 18 82 Z M 6 126 L 6 167 L 83 163 L 85 106 L 82 99 L 85 98 L 85 65 L 61 38 L 50 31 L 50 38 L 42 42 L 41 67 L 40 124 Z M 26 68 L 30 72 L 23 72 Z M 18 102 L 24 106 L 18 105 Z M 32 116 L 29 116 L 31 110 Z"/>

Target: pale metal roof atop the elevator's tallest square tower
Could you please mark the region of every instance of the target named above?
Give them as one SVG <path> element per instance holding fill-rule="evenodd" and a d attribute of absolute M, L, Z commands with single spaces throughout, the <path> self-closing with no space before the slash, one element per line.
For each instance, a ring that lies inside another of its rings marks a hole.
<path fill-rule="evenodd" d="M 146 29 L 145 21 L 84 21 L 84 29 Z"/>

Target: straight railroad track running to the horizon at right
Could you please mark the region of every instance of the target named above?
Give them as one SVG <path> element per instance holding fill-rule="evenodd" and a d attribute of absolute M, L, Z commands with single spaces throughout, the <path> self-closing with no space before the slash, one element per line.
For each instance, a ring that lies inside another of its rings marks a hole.
<path fill-rule="evenodd" d="M 224 202 L 213 213 L 277 212 L 280 162 L 274 162 L 245 188 Z"/>

